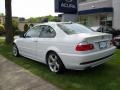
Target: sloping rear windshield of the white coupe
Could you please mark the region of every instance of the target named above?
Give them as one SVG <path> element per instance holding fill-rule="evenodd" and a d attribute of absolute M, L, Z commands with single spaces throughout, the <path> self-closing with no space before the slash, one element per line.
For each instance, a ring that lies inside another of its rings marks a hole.
<path fill-rule="evenodd" d="M 57 25 L 68 35 L 93 32 L 91 29 L 77 23 L 72 23 L 72 24 L 65 23 L 65 24 L 57 24 Z"/>

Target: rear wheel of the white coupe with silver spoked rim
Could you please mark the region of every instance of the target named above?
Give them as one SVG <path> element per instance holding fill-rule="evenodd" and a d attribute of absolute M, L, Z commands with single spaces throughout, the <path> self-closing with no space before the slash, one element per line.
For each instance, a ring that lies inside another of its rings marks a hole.
<path fill-rule="evenodd" d="M 64 64 L 55 52 L 50 52 L 46 59 L 47 65 L 53 73 L 63 73 L 65 71 Z"/>

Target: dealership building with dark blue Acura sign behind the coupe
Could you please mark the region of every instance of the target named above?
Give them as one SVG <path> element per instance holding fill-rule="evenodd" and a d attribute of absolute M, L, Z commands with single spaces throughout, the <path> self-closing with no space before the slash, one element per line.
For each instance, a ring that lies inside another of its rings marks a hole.
<path fill-rule="evenodd" d="M 120 0 L 55 0 L 55 11 L 62 21 L 120 29 Z"/>

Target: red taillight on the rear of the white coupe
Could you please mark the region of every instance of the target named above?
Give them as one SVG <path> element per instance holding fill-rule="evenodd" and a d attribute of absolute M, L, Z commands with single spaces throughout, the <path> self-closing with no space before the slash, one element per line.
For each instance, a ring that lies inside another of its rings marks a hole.
<path fill-rule="evenodd" d="M 76 51 L 89 51 L 93 50 L 94 45 L 93 44 L 78 44 L 76 46 Z"/>

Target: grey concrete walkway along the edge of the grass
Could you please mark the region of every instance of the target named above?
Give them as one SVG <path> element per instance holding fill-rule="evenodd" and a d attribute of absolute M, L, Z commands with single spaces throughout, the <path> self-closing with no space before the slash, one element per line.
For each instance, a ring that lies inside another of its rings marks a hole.
<path fill-rule="evenodd" d="M 0 90 L 58 90 L 0 55 Z"/>

